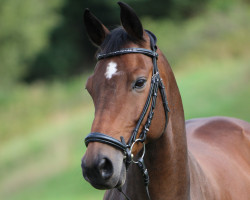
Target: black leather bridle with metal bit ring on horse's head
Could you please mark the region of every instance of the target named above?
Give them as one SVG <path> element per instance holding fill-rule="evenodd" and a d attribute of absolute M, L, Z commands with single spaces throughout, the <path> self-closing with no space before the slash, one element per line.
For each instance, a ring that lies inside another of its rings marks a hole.
<path fill-rule="evenodd" d="M 137 124 L 132 132 L 132 136 L 130 137 L 129 141 L 126 143 L 125 139 L 122 136 L 121 136 L 121 141 L 119 141 L 119 140 L 117 140 L 113 137 L 110 137 L 108 135 L 105 135 L 103 133 L 93 132 L 93 133 L 90 133 L 89 135 L 87 135 L 87 137 L 85 138 L 85 145 L 88 146 L 88 144 L 90 142 L 101 142 L 101 143 L 111 145 L 111 146 L 121 150 L 122 152 L 124 152 L 124 154 L 125 154 L 124 161 L 125 161 L 126 169 L 128 169 L 131 162 L 134 162 L 139 166 L 139 168 L 142 172 L 143 178 L 144 178 L 144 183 L 145 183 L 145 187 L 147 190 L 148 198 L 150 199 L 149 192 L 148 192 L 149 175 L 148 175 L 148 171 L 146 169 L 146 166 L 145 166 L 144 160 L 143 160 L 144 153 L 145 153 L 144 141 L 147 137 L 147 133 L 149 131 L 149 127 L 151 125 L 151 121 L 152 121 L 153 116 L 154 116 L 154 109 L 155 109 L 155 105 L 156 105 L 156 98 L 157 98 L 158 89 L 160 90 L 160 93 L 161 93 L 161 98 L 162 98 L 163 107 L 164 107 L 164 111 L 165 111 L 165 118 L 166 118 L 165 128 L 167 127 L 169 108 L 168 108 L 165 87 L 163 85 L 162 79 L 160 78 L 160 74 L 159 74 L 159 70 L 158 70 L 158 66 L 157 66 L 157 58 L 158 58 L 158 54 L 156 53 L 156 50 L 157 50 L 156 41 L 157 41 L 157 39 L 156 39 L 155 35 L 153 33 L 151 33 L 150 31 L 147 31 L 147 33 L 150 37 L 151 50 L 144 49 L 144 48 L 126 48 L 126 49 L 121 49 L 119 51 L 114 51 L 114 52 L 105 53 L 105 54 L 100 53 L 97 55 L 97 60 L 101 60 L 101 59 L 105 59 L 105 58 L 109 58 L 109 57 L 114 57 L 114 56 L 119 56 L 119 55 L 123 55 L 123 54 L 130 54 L 130 53 L 140 53 L 140 54 L 144 54 L 144 55 L 152 58 L 153 72 L 152 72 L 149 94 L 148 94 L 146 103 L 144 105 L 144 108 L 142 110 L 141 116 L 139 117 L 138 122 L 137 122 Z M 141 131 L 139 137 L 137 138 L 139 128 L 141 126 L 141 123 L 142 123 L 148 109 L 150 109 L 150 110 L 149 110 L 149 114 L 147 117 L 147 121 L 146 121 L 144 127 L 142 128 L 142 131 Z M 141 142 L 144 144 L 144 149 L 143 149 L 144 152 L 143 152 L 143 155 L 138 159 L 138 161 L 134 161 L 133 155 L 131 152 L 133 149 L 133 145 L 137 142 Z M 119 191 L 122 192 L 121 188 L 119 189 Z M 126 195 L 125 195 L 125 197 L 127 199 L 129 199 Z"/>

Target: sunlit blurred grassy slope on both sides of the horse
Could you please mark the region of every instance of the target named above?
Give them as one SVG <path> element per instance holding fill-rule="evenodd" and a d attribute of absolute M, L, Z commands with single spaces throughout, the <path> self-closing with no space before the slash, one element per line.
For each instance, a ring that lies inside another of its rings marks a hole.
<path fill-rule="evenodd" d="M 234 6 L 181 23 L 143 20 L 173 66 L 186 119 L 250 121 L 249 19 L 249 7 Z M 86 78 L 1 86 L 0 199 L 102 199 L 80 168 L 94 117 Z"/>

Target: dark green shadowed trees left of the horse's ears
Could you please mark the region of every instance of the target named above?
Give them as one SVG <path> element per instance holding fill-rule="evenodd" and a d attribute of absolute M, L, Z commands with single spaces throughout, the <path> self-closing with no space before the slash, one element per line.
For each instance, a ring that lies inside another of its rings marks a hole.
<path fill-rule="evenodd" d="M 51 32 L 47 48 L 30 65 L 26 80 L 67 78 L 92 69 L 96 47 L 84 30 L 83 12 L 85 8 L 91 8 L 109 26 L 119 22 L 118 7 L 114 9 L 113 5 L 114 2 L 100 0 L 65 1 L 60 10 L 62 22 Z"/>

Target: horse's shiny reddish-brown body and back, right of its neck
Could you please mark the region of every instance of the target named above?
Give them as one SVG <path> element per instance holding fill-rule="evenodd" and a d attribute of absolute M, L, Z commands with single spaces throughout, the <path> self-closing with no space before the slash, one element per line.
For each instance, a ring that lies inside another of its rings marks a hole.
<path fill-rule="evenodd" d="M 200 118 L 186 121 L 186 131 L 189 154 L 198 166 L 190 170 L 209 183 L 203 190 L 214 191 L 213 199 L 248 199 L 250 124 L 229 117 Z"/>

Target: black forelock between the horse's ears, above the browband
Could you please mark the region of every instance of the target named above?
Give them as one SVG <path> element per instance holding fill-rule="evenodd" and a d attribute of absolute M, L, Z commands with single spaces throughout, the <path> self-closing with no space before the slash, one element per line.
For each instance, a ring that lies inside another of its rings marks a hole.
<path fill-rule="evenodd" d="M 109 53 L 113 51 L 118 51 L 127 43 L 140 44 L 142 41 L 130 37 L 127 32 L 120 26 L 112 30 L 103 41 L 100 46 L 101 53 Z"/>

